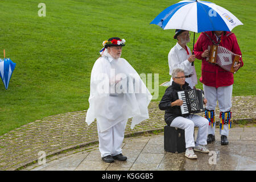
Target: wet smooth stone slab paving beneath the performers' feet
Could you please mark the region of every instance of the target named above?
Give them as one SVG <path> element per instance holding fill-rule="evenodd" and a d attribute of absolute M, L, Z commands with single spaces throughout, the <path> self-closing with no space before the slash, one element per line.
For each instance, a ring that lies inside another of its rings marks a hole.
<path fill-rule="evenodd" d="M 123 142 L 127 161 L 105 163 L 98 147 L 84 147 L 74 154 L 54 156 L 45 164 L 28 166 L 24 171 L 170 171 L 170 170 L 256 170 L 256 127 L 234 127 L 229 133 L 229 145 L 221 146 L 219 129 L 216 141 L 208 144 L 209 154 L 195 152 L 197 159 L 185 158 L 185 152 L 164 151 L 163 132 L 149 136 L 129 137 Z M 195 137 L 197 130 L 195 131 Z M 91 151 L 89 151 L 91 150 Z"/>

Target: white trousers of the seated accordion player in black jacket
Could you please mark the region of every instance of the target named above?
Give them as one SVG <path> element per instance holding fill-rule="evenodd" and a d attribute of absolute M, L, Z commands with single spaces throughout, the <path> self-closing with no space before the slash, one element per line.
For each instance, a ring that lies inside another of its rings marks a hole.
<path fill-rule="evenodd" d="M 207 144 L 207 127 L 209 121 L 200 115 L 190 114 L 188 117 L 176 117 L 171 122 L 171 127 L 177 127 L 179 129 L 185 130 L 185 143 L 186 148 L 195 147 L 194 140 L 194 127 L 199 127 L 196 139 L 196 145 L 206 145 Z"/>

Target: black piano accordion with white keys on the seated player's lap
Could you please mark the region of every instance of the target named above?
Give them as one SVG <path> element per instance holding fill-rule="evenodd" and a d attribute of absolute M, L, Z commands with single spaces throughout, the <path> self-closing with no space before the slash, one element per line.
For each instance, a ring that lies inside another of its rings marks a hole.
<path fill-rule="evenodd" d="M 177 92 L 177 95 L 183 101 L 183 105 L 180 106 L 181 114 L 199 113 L 205 110 L 203 90 L 183 90 Z"/>

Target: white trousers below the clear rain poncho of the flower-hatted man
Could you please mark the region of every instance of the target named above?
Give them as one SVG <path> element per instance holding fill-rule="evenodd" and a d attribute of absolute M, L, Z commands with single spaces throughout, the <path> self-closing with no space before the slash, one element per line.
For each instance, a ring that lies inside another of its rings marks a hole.
<path fill-rule="evenodd" d="M 123 119 L 123 121 L 104 132 L 100 132 L 97 123 L 99 150 L 102 158 L 107 155 L 115 156 L 122 153 L 121 147 L 125 137 L 126 123 L 127 119 Z"/>

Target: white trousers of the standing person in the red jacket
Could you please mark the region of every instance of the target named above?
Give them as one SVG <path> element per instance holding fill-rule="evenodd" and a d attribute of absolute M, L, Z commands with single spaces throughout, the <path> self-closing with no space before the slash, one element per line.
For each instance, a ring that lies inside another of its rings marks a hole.
<path fill-rule="evenodd" d="M 215 110 L 218 101 L 218 107 L 221 112 L 225 113 L 229 111 L 232 107 L 232 90 L 233 85 L 230 86 L 220 86 L 218 88 L 213 86 L 203 85 L 204 87 L 204 97 L 207 99 L 206 108 L 208 110 Z M 218 115 L 215 115 L 216 120 L 219 119 Z M 215 126 L 212 127 L 208 125 L 208 134 L 215 135 Z M 224 125 L 223 130 L 220 127 L 220 135 L 229 135 L 229 126 Z"/>

